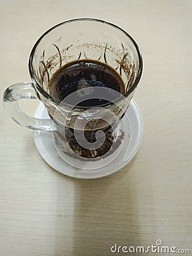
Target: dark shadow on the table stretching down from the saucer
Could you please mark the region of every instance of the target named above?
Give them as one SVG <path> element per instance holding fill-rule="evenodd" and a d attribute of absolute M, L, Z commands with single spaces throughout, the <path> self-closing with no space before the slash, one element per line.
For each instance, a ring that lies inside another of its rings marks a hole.
<path fill-rule="evenodd" d="M 131 175 L 135 159 L 108 177 L 74 182 L 72 255 L 111 255 L 115 243 L 117 247 L 137 245 L 137 191 Z"/>

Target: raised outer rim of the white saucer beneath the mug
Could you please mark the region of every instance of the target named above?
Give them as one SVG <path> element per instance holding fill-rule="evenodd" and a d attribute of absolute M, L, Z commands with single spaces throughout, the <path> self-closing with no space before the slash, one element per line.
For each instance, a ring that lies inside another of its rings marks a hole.
<path fill-rule="evenodd" d="M 39 151 L 39 154 L 44 159 L 44 161 L 49 166 L 51 166 L 54 170 L 59 171 L 61 174 L 64 174 L 64 175 L 67 175 L 70 177 L 74 177 L 76 179 L 98 179 L 99 177 L 105 177 L 105 176 L 114 174 L 115 172 L 119 171 L 124 166 L 126 166 L 129 162 L 131 162 L 131 160 L 134 158 L 137 151 L 139 150 L 140 144 L 141 144 L 141 141 L 143 138 L 143 119 L 141 117 L 140 110 L 139 110 L 136 102 L 133 99 L 130 102 L 130 106 L 132 108 L 132 111 L 135 113 L 135 117 L 136 117 L 136 121 L 137 121 L 137 125 L 138 125 L 137 144 L 136 144 L 136 147 L 133 150 L 131 156 L 126 161 L 122 159 L 122 161 L 116 162 L 115 167 L 113 164 L 112 171 L 99 173 L 99 169 L 102 169 L 102 167 L 95 169 L 95 172 L 94 172 L 94 170 L 79 169 L 79 168 L 73 167 L 70 164 L 68 164 L 67 162 L 65 162 L 65 160 L 62 159 L 58 153 L 56 155 L 58 156 L 59 161 L 58 161 L 58 163 L 56 163 L 55 158 L 50 158 L 50 156 L 52 156 L 52 155 L 49 154 L 49 151 L 47 150 L 47 148 L 44 147 L 44 143 L 42 141 L 42 135 L 48 135 L 48 136 L 52 137 L 52 134 L 50 131 L 38 131 L 38 130 L 33 131 L 33 137 L 34 137 L 34 142 L 35 142 L 37 151 Z M 129 109 L 130 109 L 130 106 L 129 106 Z M 40 118 L 44 111 L 45 111 L 45 107 L 44 107 L 43 103 L 40 102 L 40 104 L 37 106 L 37 109 L 35 112 L 35 117 Z M 40 140 L 39 140 L 39 138 L 40 138 Z M 54 144 L 53 144 L 53 147 L 54 147 Z M 55 149 L 55 151 L 56 151 L 56 149 Z M 62 162 L 62 164 L 61 164 L 62 167 L 60 166 L 59 162 Z M 112 163 L 114 163 L 114 161 L 109 163 L 107 167 L 109 167 L 110 164 L 112 164 Z M 106 169 L 109 170 L 110 168 L 107 168 L 107 167 L 106 167 Z"/>

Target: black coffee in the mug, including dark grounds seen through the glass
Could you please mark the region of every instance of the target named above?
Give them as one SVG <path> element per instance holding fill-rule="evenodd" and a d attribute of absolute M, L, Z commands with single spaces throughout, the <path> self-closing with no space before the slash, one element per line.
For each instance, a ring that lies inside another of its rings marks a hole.
<path fill-rule="evenodd" d="M 98 95 L 94 95 L 95 86 L 107 88 L 108 93 L 110 93 L 111 89 L 121 94 L 125 92 L 122 78 L 115 69 L 112 69 L 107 64 L 101 63 L 100 61 L 87 59 L 73 61 L 58 69 L 49 81 L 48 89 L 51 96 L 59 101 L 64 100 L 69 94 L 74 93 L 69 101 L 65 101 L 71 105 L 87 107 L 108 103 L 107 100 L 99 98 L 102 96 L 97 97 Z M 84 94 L 78 94 L 78 90 L 85 88 L 88 88 L 89 90 L 90 100 L 85 100 Z M 114 100 L 115 97 L 119 97 L 118 93 L 116 95 L 115 93 L 112 93 Z M 78 102 L 80 103 L 76 104 L 77 102 L 73 102 L 73 98 L 76 98 L 75 101 L 79 100 Z M 65 137 L 70 148 L 72 148 L 76 154 L 79 154 L 84 158 L 97 158 L 110 150 L 113 142 L 112 131 L 115 129 L 115 126 L 116 123 L 111 123 L 109 125 L 102 119 L 97 121 L 97 125 L 94 128 L 89 125 L 89 122 L 87 123 L 84 129 L 84 135 L 87 142 L 94 143 L 96 141 L 95 133 L 97 133 L 97 131 L 102 130 L 105 133 L 105 143 L 96 150 L 87 150 L 78 144 L 74 136 L 73 123 L 70 123 L 68 126 L 65 125 Z M 59 127 L 58 130 L 60 130 Z"/>

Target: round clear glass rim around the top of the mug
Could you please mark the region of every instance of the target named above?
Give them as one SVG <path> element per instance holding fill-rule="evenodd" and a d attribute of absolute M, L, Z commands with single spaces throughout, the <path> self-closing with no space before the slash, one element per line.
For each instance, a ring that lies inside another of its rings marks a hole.
<path fill-rule="evenodd" d="M 47 93 L 40 86 L 39 82 L 37 81 L 37 79 L 35 77 L 34 71 L 33 71 L 33 60 L 34 60 L 34 56 L 35 56 L 35 51 L 36 51 L 37 47 L 39 46 L 39 44 L 41 42 L 41 39 L 43 39 L 46 35 L 48 35 L 49 32 L 51 32 L 52 30 L 55 30 L 55 28 L 60 27 L 60 26 L 62 26 L 64 24 L 71 23 L 71 22 L 79 22 L 79 21 L 100 22 L 100 23 L 103 23 L 103 24 L 107 24 L 108 26 L 114 27 L 116 30 L 119 30 L 119 31 L 123 32 L 123 34 L 126 35 L 128 37 L 128 39 L 130 39 L 131 42 L 133 43 L 133 45 L 135 46 L 136 52 L 137 52 L 137 55 L 138 55 L 138 59 L 139 59 L 139 70 L 137 71 L 136 79 L 133 82 L 131 88 L 128 89 L 127 92 L 122 94 L 124 97 L 127 97 L 136 88 L 137 84 L 139 83 L 139 81 L 141 79 L 141 74 L 143 72 L 143 58 L 142 58 L 142 55 L 141 55 L 140 48 L 137 45 L 137 43 L 135 42 L 135 40 L 131 37 L 131 35 L 129 35 L 125 30 L 123 30 L 119 26 L 117 26 L 115 24 L 112 24 L 110 22 L 106 22 L 105 20 L 94 19 L 94 18 L 77 18 L 77 19 L 66 20 L 64 22 L 61 22 L 61 23 L 56 24 L 55 26 L 49 28 L 47 31 L 44 32 L 43 35 L 40 36 L 40 38 L 36 41 L 36 43 L 34 44 L 34 47 L 31 50 L 30 58 L 29 58 L 29 61 L 28 61 L 28 69 L 29 69 L 29 72 L 30 72 L 30 76 L 31 76 L 31 79 L 35 81 L 35 85 L 37 86 L 37 89 L 40 91 L 41 94 L 43 94 L 44 97 L 48 98 L 53 103 L 58 104 L 58 105 L 61 103 L 61 101 L 59 101 L 56 98 L 52 97 L 49 93 Z M 118 99 L 116 99 L 116 100 L 118 100 Z M 100 106 L 101 107 L 105 107 L 105 106 L 109 106 L 111 104 L 113 104 L 113 102 L 108 102 L 106 104 L 99 105 L 99 107 Z M 69 104 L 67 104 L 67 105 L 69 105 Z M 90 107 L 89 106 L 76 106 L 76 108 L 87 109 L 87 108 L 90 108 Z"/>

